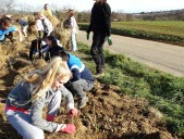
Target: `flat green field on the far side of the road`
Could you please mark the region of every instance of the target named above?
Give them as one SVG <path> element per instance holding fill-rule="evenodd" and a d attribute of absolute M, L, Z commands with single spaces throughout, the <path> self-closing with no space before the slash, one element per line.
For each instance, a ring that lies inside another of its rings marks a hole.
<path fill-rule="evenodd" d="M 82 23 L 79 27 L 86 30 L 88 24 Z M 113 22 L 111 30 L 116 35 L 184 46 L 184 22 L 180 21 Z"/>

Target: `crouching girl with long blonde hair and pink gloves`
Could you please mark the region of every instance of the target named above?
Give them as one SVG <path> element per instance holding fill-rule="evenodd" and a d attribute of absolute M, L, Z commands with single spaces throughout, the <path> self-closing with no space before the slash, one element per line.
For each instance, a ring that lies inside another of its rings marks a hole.
<path fill-rule="evenodd" d="M 5 116 L 24 139 L 44 139 L 44 130 L 75 132 L 75 126 L 72 124 L 53 122 L 62 97 L 66 98 L 69 113 L 77 116 L 73 96 L 63 86 L 70 77 L 71 72 L 66 63 L 56 56 L 42 70 L 26 74 L 9 93 Z M 41 115 L 46 105 L 48 110 L 45 119 Z"/>

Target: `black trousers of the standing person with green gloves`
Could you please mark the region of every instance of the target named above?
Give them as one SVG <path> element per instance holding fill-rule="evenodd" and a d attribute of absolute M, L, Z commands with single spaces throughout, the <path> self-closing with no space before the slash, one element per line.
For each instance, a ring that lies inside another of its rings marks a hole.
<path fill-rule="evenodd" d="M 90 54 L 95 61 L 97 73 L 101 73 L 105 71 L 105 55 L 103 55 L 105 40 L 106 33 L 94 33 Z"/>

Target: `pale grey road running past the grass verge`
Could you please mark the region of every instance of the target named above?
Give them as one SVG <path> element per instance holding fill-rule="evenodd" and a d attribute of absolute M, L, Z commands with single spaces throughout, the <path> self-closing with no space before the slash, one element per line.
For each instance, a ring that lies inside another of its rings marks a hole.
<path fill-rule="evenodd" d="M 86 33 L 81 30 L 77 40 L 91 45 L 91 37 L 93 34 L 90 34 L 90 39 L 86 40 Z M 111 52 L 125 54 L 135 61 L 175 76 L 184 76 L 184 48 L 118 35 L 112 35 L 112 40 L 111 47 L 105 43 Z"/>

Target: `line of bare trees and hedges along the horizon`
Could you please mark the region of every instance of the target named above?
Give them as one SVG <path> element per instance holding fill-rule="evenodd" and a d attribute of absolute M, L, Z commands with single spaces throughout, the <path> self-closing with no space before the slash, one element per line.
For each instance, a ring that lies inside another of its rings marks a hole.
<path fill-rule="evenodd" d="M 28 5 L 27 3 L 19 3 L 15 0 L 0 0 L 1 14 L 17 13 L 29 14 L 35 11 L 40 11 L 44 5 Z M 65 17 L 65 11 L 71 9 L 70 5 L 59 7 L 57 4 L 50 5 L 52 12 L 59 17 Z M 75 11 L 76 21 L 79 23 L 88 23 L 90 20 L 90 11 Z M 140 12 L 140 13 L 125 13 L 121 11 L 112 11 L 112 22 L 131 22 L 131 21 L 184 21 L 184 9 L 159 12 Z"/>

